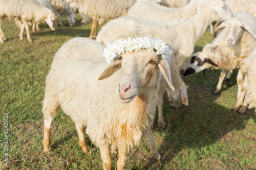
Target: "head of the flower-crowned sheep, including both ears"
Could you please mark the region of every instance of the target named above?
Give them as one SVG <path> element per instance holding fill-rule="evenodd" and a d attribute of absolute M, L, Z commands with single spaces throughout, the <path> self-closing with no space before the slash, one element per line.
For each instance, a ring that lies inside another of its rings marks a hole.
<path fill-rule="evenodd" d="M 159 72 L 174 90 L 169 65 L 166 59 L 155 52 L 142 49 L 120 54 L 104 70 L 99 80 L 110 77 L 120 68 L 122 68 L 122 77 L 117 85 L 116 94 L 122 103 L 129 103 L 136 95 L 156 88 Z"/>

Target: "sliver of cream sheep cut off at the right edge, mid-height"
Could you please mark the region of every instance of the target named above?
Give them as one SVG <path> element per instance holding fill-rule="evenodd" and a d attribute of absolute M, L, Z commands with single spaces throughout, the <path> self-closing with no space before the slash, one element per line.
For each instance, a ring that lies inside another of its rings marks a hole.
<path fill-rule="evenodd" d="M 248 102 L 248 108 L 255 108 L 256 107 L 256 49 L 253 50 L 253 52 L 250 54 L 248 58 L 252 58 L 249 62 L 249 70 L 248 70 L 248 86 L 247 86 L 247 102 Z M 256 110 L 255 110 L 256 112 Z"/>

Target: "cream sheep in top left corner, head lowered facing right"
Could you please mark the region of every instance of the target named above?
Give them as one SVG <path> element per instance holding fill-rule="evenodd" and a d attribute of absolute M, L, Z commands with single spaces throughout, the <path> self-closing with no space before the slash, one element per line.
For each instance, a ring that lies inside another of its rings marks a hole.
<path fill-rule="evenodd" d="M 28 41 L 32 41 L 29 34 L 28 21 L 40 22 L 45 20 L 50 28 L 53 26 L 53 21 L 56 19 L 56 15 L 48 8 L 42 7 L 38 2 L 34 0 L 13 0 L 5 1 L 0 0 L 0 42 L 4 43 L 6 40 L 4 32 L 1 28 L 4 17 L 17 18 L 24 22 L 22 28 L 20 28 L 19 38 L 23 39 L 24 27 L 27 32 Z"/>

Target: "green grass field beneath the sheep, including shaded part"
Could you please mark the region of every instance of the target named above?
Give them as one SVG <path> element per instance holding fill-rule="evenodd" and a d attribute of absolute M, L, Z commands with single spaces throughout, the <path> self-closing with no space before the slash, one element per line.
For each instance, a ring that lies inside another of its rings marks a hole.
<path fill-rule="evenodd" d="M 64 18 L 62 18 L 65 20 Z M 8 40 L 0 44 L 0 109 L 1 141 L 4 141 L 4 113 L 8 113 L 8 166 L 4 165 L 4 147 L 1 142 L 0 169 L 101 169 L 98 148 L 83 154 L 75 125 L 62 111 L 51 128 L 51 153 L 44 153 L 42 145 L 45 79 L 53 56 L 59 47 L 73 37 L 88 37 L 91 25 L 81 25 L 77 15 L 75 27 L 59 27 L 56 32 L 42 25 L 32 33 L 32 43 L 19 40 L 19 31 L 13 20 L 3 21 Z M 103 25 L 101 25 L 103 26 Z M 209 30 L 197 43 L 195 51 L 211 42 Z M 188 85 L 189 106 L 173 108 L 164 96 L 163 116 L 167 126 L 160 128 L 154 122 L 152 133 L 162 156 L 154 160 L 142 138 L 138 147 L 127 153 L 127 169 L 256 169 L 256 115 L 247 110 L 240 115 L 232 112 L 236 103 L 237 70 L 228 88 L 212 95 L 220 71 L 183 77 Z M 157 117 L 157 116 L 156 116 Z M 116 168 L 117 155 L 112 155 Z"/>

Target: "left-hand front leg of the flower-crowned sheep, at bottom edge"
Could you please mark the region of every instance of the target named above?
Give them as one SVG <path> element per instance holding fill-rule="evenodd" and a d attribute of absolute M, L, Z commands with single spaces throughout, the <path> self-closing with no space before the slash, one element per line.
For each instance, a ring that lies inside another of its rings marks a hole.
<path fill-rule="evenodd" d="M 112 158 L 110 155 L 110 146 L 108 143 L 99 146 L 100 155 L 102 159 L 102 165 L 104 170 L 112 168 Z"/>

